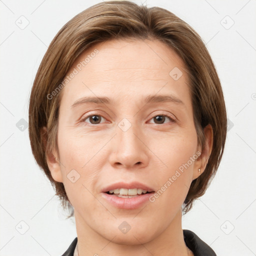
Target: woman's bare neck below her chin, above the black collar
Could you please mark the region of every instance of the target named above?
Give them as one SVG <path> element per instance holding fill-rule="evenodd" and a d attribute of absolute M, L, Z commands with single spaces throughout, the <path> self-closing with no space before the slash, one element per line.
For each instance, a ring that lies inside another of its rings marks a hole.
<path fill-rule="evenodd" d="M 74 212 L 79 256 L 128 256 L 131 254 L 141 256 L 191 255 L 188 252 L 188 248 L 186 247 L 183 238 L 183 231 L 181 227 L 181 209 L 177 212 L 173 220 L 169 223 L 163 232 L 145 243 L 140 243 L 134 238 L 134 245 L 115 243 L 115 234 L 112 235 L 111 240 L 106 239 L 98 232 L 95 232 L 93 229 L 91 229 L 91 227 L 87 225 L 87 223 L 82 219 L 78 212 Z"/>

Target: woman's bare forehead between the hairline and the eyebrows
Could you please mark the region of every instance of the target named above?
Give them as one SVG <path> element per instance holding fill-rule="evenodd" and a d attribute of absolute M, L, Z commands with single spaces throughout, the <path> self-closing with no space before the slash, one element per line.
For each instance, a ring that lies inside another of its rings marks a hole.
<path fill-rule="evenodd" d="M 84 95 L 110 96 L 169 93 L 174 96 L 188 90 L 187 75 L 181 58 L 158 40 L 107 40 L 82 52 L 67 76 L 61 101 L 71 101 Z M 179 79 L 172 77 L 173 71 Z M 174 89 L 174 91 L 173 91 Z M 188 92 L 186 92 L 188 94 Z M 185 95 L 183 95 L 185 96 Z"/>

